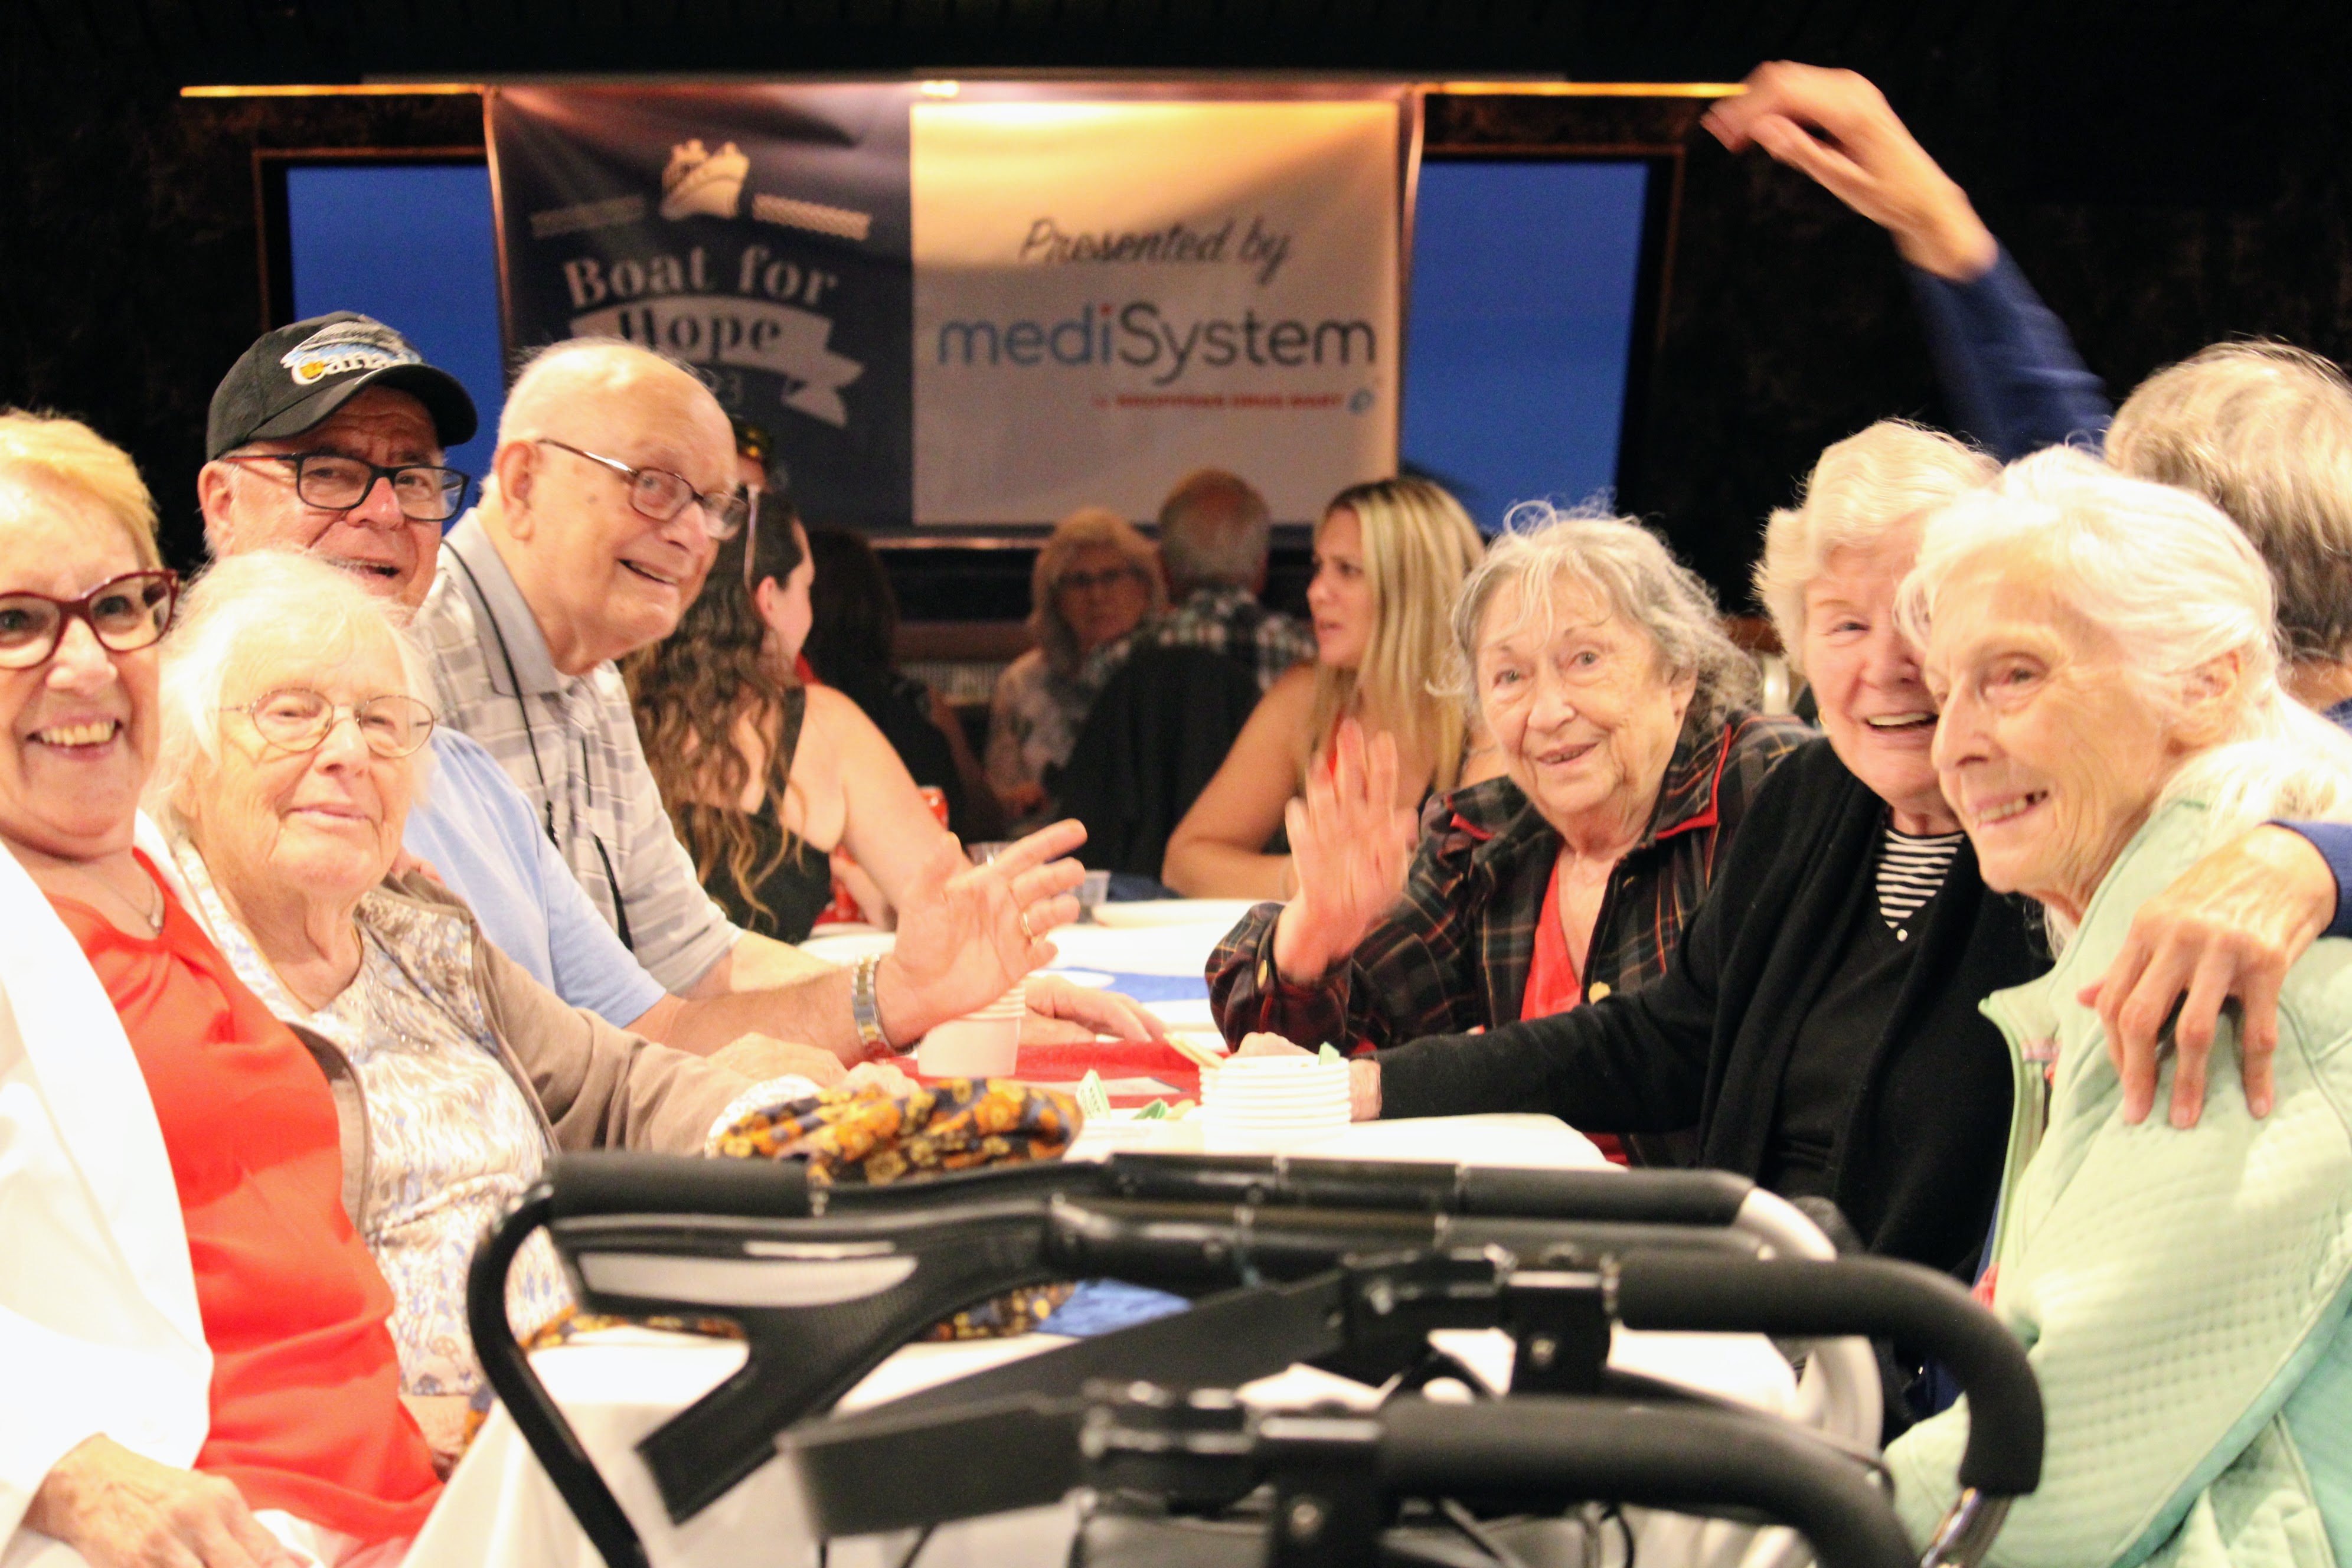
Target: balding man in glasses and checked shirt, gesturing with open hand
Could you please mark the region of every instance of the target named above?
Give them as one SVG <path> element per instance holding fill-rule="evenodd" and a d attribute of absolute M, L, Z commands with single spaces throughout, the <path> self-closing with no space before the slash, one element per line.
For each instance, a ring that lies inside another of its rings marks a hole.
<path fill-rule="evenodd" d="M 482 503 L 442 541 L 416 630 L 442 724 L 496 757 L 673 1006 L 727 999 L 769 1034 L 880 1056 L 1051 959 L 1042 933 L 1075 917 L 1082 875 L 1056 856 L 1084 830 L 976 870 L 943 842 L 896 950 L 854 971 L 729 924 L 670 827 L 614 661 L 677 628 L 746 512 L 734 430 L 701 381 L 628 343 L 557 343 L 508 393 Z M 1080 1037 L 1157 1032 L 1127 999 L 1058 980 L 1033 983 L 1030 1006 Z"/>

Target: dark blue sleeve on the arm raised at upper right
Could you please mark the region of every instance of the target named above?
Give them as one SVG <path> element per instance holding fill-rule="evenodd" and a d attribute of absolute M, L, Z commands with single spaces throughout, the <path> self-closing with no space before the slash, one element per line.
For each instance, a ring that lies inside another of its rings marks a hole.
<path fill-rule="evenodd" d="M 1973 282 L 1905 273 L 1964 435 L 2004 463 L 2063 442 L 2093 451 L 2105 442 L 2114 418 L 2105 383 L 2006 249 Z"/>

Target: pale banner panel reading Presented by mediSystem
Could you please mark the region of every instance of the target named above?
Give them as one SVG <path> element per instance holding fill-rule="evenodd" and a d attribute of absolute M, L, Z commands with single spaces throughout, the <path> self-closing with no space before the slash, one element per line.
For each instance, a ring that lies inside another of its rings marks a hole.
<path fill-rule="evenodd" d="M 915 515 L 1395 473 L 1404 101 L 915 103 Z"/>

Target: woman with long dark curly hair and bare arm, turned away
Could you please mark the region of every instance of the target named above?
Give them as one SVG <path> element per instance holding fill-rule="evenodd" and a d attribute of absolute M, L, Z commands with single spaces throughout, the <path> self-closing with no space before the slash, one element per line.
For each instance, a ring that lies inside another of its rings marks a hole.
<path fill-rule="evenodd" d="M 946 832 L 856 703 L 793 675 L 809 635 L 809 541 L 760 496 L 720 545 L 677 632 L 623 663 L 644 759 L 713 898 L 746 931 L 797 943 L 833 900 L 833 851 L 870 919 Z"/>

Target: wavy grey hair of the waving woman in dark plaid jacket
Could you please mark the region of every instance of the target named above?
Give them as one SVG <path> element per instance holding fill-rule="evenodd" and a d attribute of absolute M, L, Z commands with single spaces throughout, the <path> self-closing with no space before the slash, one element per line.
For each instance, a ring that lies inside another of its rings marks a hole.
<path fill-rule="evenodd" d="M 1477 646 L 1503 588 L 1519 590 L 1519 618 L 1552 630 L 1552 588 L 1576 583 L 1637 628 L 1668 679 L 1691 677 L 1691 715 L 1719 724 L 1757 701 L 1757 665 L 1724 635 L 1705 578 L 1630 517 L 1559 510 L 1550 501 L 1510 508 L 1503 531 L 1454 597 L 1456 696 L 1475 701 Z"/>

